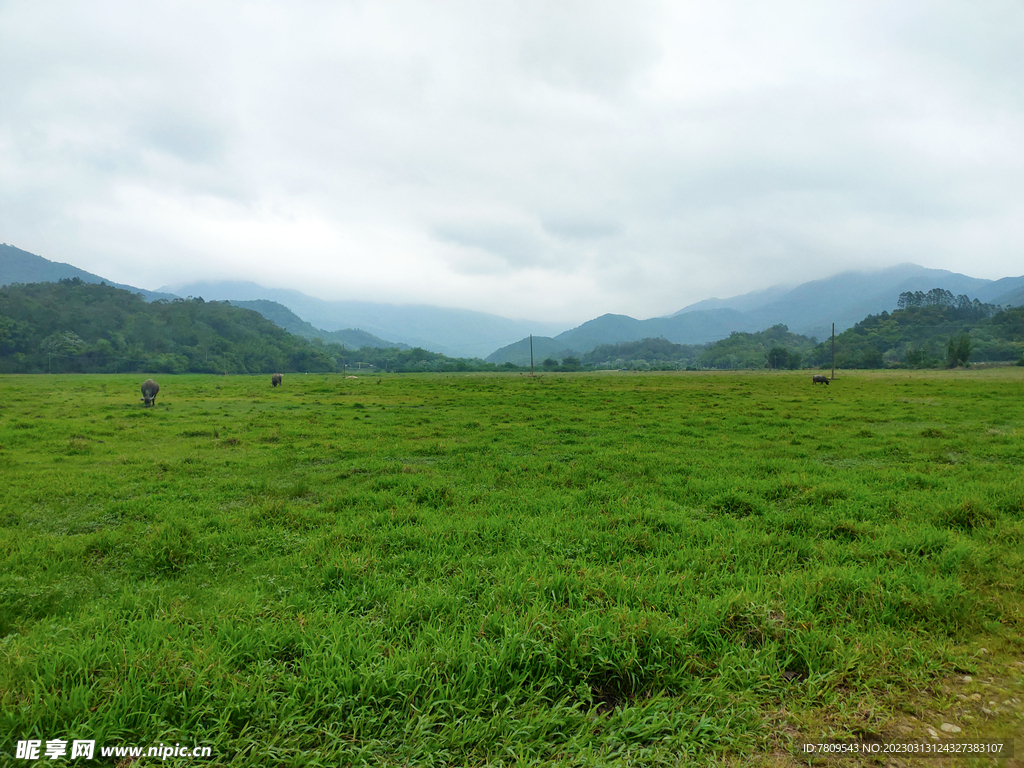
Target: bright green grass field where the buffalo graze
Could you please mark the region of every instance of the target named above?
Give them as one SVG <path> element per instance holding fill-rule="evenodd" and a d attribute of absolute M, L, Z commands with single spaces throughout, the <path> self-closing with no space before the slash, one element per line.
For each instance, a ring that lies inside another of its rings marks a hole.
<path fill-rule="evenodd" d="M 0 763 L 1024 734 L 1024 369 L 144 378 L 0 378 Z"/>

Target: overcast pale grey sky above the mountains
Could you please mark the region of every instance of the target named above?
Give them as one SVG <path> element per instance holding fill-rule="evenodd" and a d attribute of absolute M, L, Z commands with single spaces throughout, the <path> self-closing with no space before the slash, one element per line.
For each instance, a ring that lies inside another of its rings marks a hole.
<path fill-rule="evenodd" d="M 1017 275 L 1022 73 L 1018 0 L 0 0 L 0 241 L 565 323 Z"/>

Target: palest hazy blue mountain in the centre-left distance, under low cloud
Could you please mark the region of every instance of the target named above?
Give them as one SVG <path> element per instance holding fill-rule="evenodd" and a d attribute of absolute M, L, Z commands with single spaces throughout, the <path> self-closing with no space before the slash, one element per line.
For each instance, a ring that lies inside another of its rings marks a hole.
<path fill-rule="evenodd" d="M 563 325 L 513 321 L 469 309 L 324 301 L 298 291 L 263 288 L 255 283 L 193 283 L 161 290 L 217 301 L 268 299 L 284 304 L 302 319 L 326 331 L 357 328 L 381 339 L 393 339 L 454 357 L 482 357 L 496 347 L 530 333 L 555 334 L 564 328 Z"/>

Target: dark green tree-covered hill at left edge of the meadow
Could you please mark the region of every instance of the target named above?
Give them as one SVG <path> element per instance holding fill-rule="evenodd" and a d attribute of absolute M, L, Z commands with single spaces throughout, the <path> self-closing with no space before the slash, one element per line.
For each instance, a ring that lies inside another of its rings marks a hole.
<path fill-rule="evenodd" d="M 146 302 L 78 279 L 0 288 L 3 373 L 332 371 L 330 351 L 226 302 Z"/>

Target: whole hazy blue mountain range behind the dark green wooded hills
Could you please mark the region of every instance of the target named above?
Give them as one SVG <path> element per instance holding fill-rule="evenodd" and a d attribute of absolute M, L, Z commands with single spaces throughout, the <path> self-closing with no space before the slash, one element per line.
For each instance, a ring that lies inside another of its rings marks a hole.
<path fill-rule="evenodd" d="M 79 278 L 141 293 L 148 300 L 202 296 L 255 309 L 290 333 L 349 347 L 419 346 L 455 357 L 528 365 L 530 337 L 537 361 L 580 355 L 599 344 L 663 337 L 677 344 L 701 344 L 734 331 L 757 332 L 785 325 L 798 334 L 825 338 L 831 324 L 840 333 L 868 314 L 896 307 L 904 291 L 942 288 L 954 295 L 998 305 L 1024 304 L 1024 276 L 984 280 L 916 264 L 873 271 L 850 271 L 797 286 L 773 286 L 727 299 L 706 299 L 671 315 L 636 319 L 604 314 L 583 325 L 515 321 L 468 309 L 364 301 L 325 301 L 298 291 L 255 283 L 210 282 L 159 291 L 123 286 L 75 267 L 0 245 L 0 285 Z M 518 341 L 516 341 L 518 339 Z M 497 351 L 495 351 L 497 349 Z"/>

